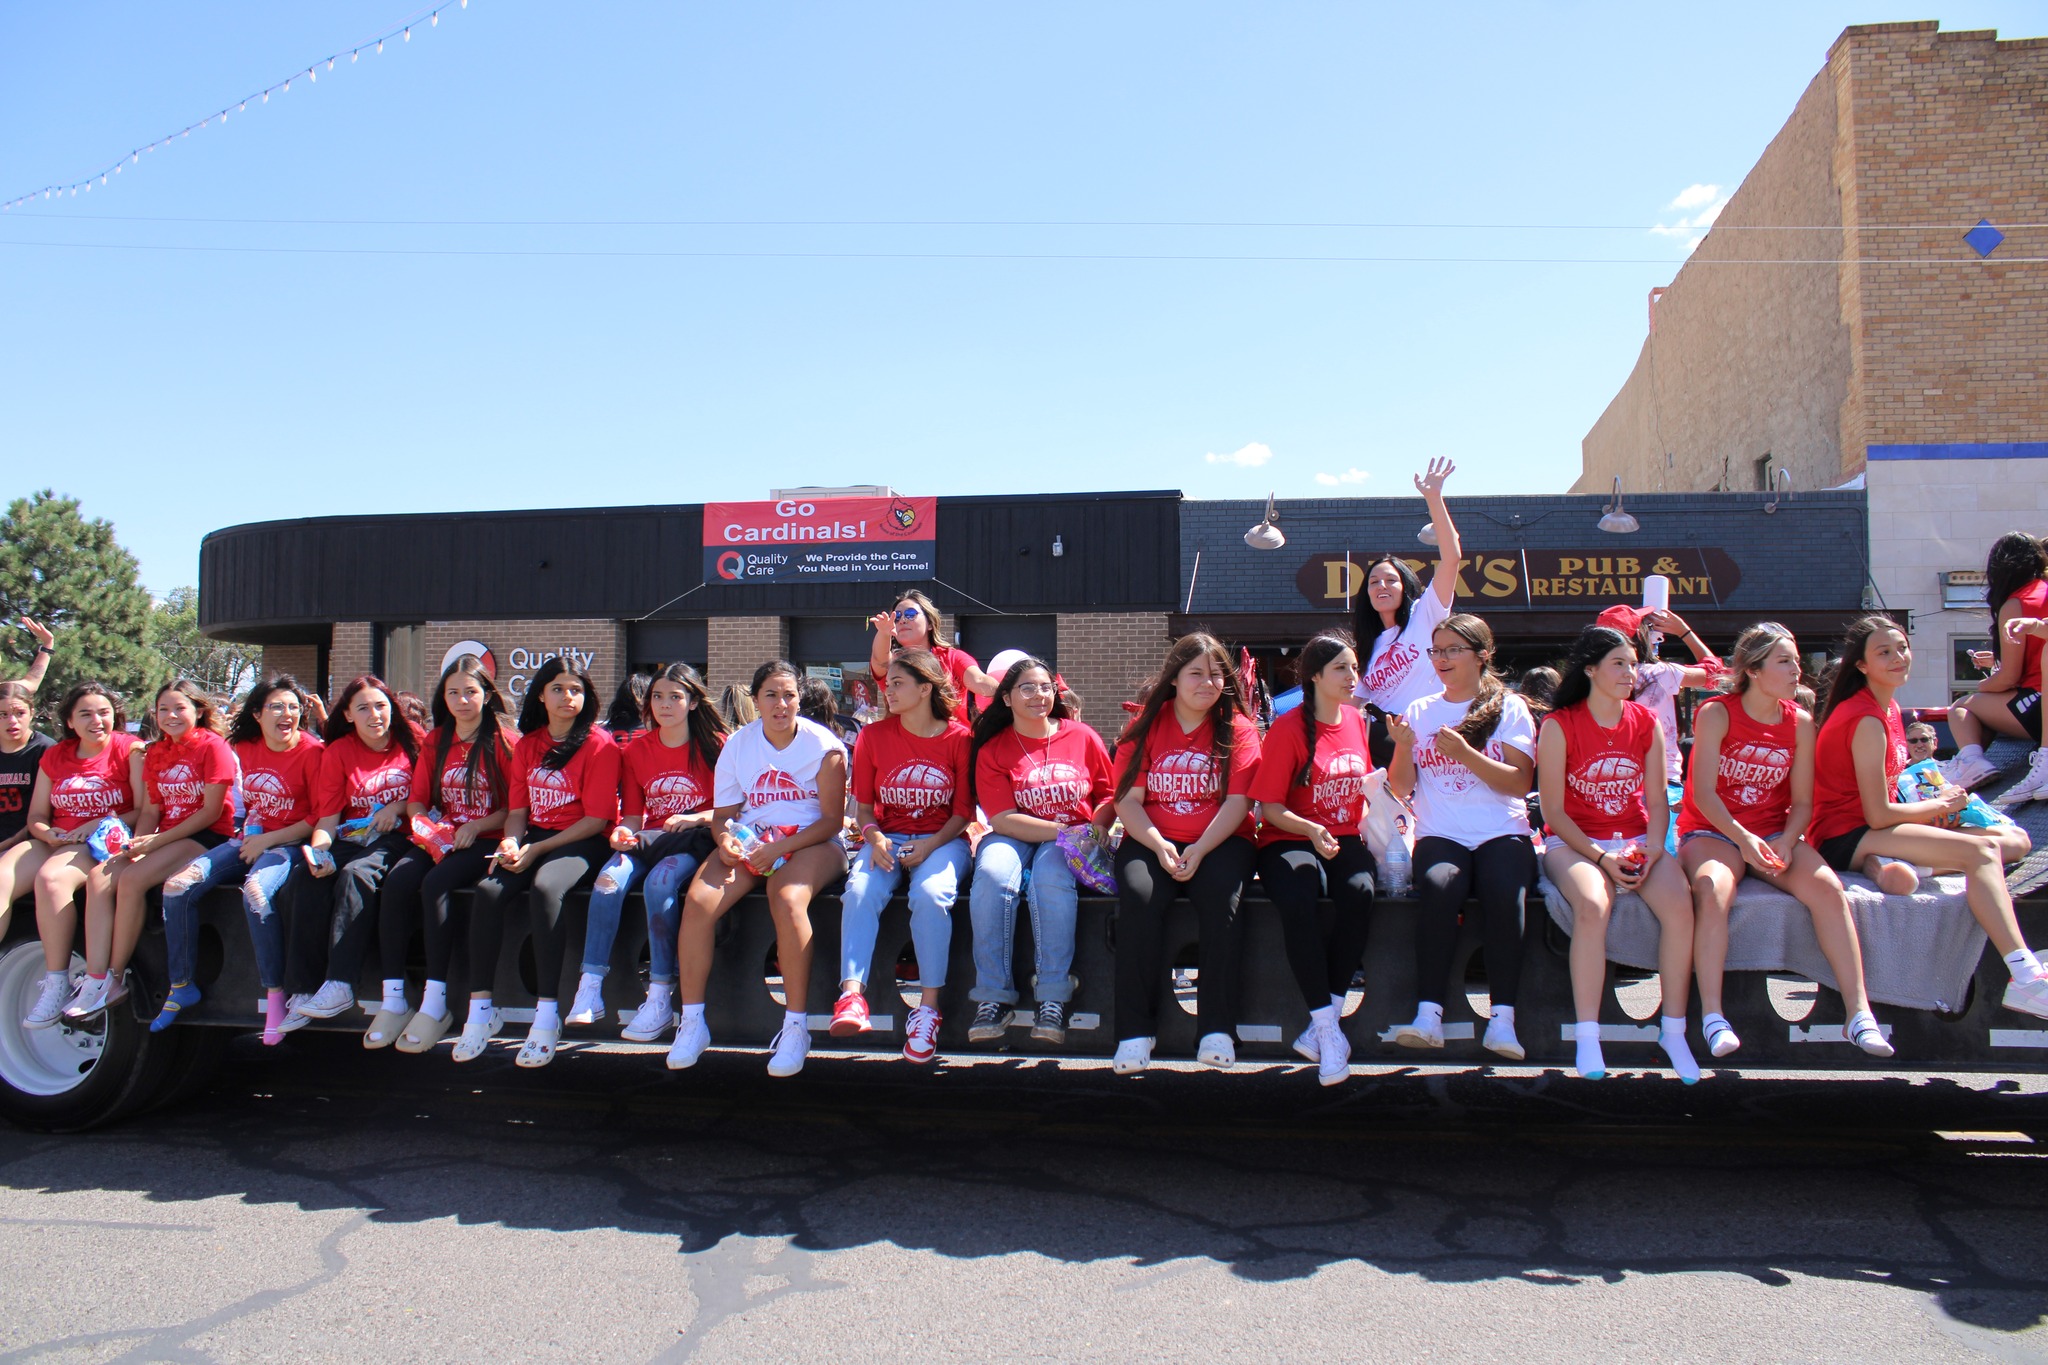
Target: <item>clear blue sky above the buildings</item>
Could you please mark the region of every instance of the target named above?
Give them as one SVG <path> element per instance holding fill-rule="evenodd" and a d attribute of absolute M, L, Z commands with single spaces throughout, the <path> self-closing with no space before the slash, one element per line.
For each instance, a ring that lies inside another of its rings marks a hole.
<path fill-rule="evenodd" d="M 1430 454 L 1563 491 L 1683 258 L 1649 227 L 1741 182 L 1845 25 L 2048 31 L 449 0 L 348 61 L 412 12 L 0 8 L 0 199 L 231 111 L 0 215 L 0 493 L 82 497 L 158 593 L 207 530 L 322 512 L 1384 495 Z"/>

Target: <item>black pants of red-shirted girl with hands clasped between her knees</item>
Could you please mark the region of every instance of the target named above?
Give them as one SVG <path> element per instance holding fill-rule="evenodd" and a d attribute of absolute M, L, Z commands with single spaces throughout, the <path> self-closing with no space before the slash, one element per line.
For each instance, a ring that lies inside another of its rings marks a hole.
<path fill-rule="evenodd" d="M 1249 839 L 1231 837 L 1202 857 L 1186 882 L 1159 870 L 1159 855 L 1137 839 L 1116 845 L 1116 1038 L 1159 1033 L 1159 984 L 1167 974 L 1165 913 L 1188 896 L 1200 917 L 1200 978 L 1194 1019 L 1206 1038 L 1237 1027 L 1243 923 L 1237 902 L 1251 880 Z"/>

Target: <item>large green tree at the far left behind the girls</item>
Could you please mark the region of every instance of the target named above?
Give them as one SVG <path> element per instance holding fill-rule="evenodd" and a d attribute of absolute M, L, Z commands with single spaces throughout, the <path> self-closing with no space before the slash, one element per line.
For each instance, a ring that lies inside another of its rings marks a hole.
<path fill-rule="evenodd" d="M 0 518 L 0 677 L 20 677 L 35 641 L 20 628 L 33 616 L 57 632 L 39 700 L 96 679 L 119 692 L 139 718 L 150 690 L 168 677 L 150 649 L 150 591 L 135 581 L 135 557 L 100 518 L 86 520 L 76 497 L 49 489 L 16 497 Z"/>

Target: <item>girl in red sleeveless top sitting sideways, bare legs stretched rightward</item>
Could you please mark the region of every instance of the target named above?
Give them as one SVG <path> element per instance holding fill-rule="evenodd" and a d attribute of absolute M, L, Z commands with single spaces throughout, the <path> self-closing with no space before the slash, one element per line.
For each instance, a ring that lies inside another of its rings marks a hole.
<path fill-rule="evenodd" d="M 1919 886 L 1915 864 L 1960 872 L 1970 913 L 2013 972 L 2005 1007 L 2048 1019 L 2048 976 L 2013 919 L 1999 843 L 1939 827 L 1968 804 L 1968 792 L 1950 784 L 1931 800 L 1898 800 L 1894 782 L 1905 772 L 1907 737 L 1894 698 L 1911 673 L 1913 647 L 1896 622 L 1866 616 L 1849 626 L 1821 712 L 1806 841 L 1829 868 L 1864 872 L 1892 896 Z"/>

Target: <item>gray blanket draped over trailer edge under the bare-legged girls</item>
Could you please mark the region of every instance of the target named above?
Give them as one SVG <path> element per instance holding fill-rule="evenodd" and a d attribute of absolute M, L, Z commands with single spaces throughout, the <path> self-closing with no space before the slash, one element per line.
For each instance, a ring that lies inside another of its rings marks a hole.
<path fill-rule="evenodd" d="M 1878 1005 L 1956 1009 L 1985 954 L 1985 929 L 1962 898 L 1960 876 L 1923 876 L 1911 896 L 1886 896 L 1862 876 L 1841 878 L 1864 941 L 1864 978 Z M 1559 929 L 1571 933 L 1571 905 L 1542 880 L 1544 905 Z M 1657 917 L 1636 894 L 1624 894 L 1608 923 L 1608 960 L 1657 970 Z M 1839 988 L 1821 956 L 1806 907 L 1755 878 L 1743 878 L 1729 915 L 1731 972 L 1796 972 Z"/>

